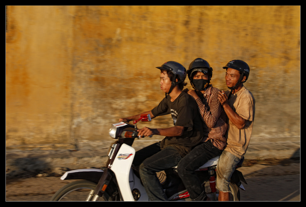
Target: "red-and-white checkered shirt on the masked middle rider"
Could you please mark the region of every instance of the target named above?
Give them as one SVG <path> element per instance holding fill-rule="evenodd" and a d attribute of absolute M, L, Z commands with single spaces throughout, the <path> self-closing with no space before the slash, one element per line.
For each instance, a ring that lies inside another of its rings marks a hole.
<path fill-rule="evenodd" d="M 203 142 L 211 140 L 212 144 L 220 150 L 226 145 L 224 136 L 227 123 L 226 113 L 218 100 L 219 89 L 209 85 L 204 98 L 196 99 L 201 119 L 203 120 Z"/>

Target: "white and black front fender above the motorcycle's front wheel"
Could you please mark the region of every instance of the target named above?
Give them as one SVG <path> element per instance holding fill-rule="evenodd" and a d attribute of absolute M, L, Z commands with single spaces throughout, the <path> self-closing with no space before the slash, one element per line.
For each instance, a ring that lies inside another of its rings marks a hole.
<path fill-rule="evenodd" d="M 78 169 L 70 170 L 62 175 L 61 180 L 89 180 L 98 183 L 104 170 L 101 169 Z"/>

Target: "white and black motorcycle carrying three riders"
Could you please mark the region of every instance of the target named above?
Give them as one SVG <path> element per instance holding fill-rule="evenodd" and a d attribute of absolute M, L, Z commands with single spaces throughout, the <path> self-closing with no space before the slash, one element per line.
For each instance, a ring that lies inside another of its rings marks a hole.
<path fill-rule="evenodd" d="M 149 201 L 142 185 L 138 170 L 132 165 L 135 149 L 132 144 L 138 137 L 136 123 L 151 121 L 149 114 L 141 115 L 133 124 L 122 121 L 112 124 L 109 134 L 116 139 L 108 152 L 106 167 L 102 169 L 79 169 L 66 172 L 61 180 L 77 180 L 66 184 L 51 198 L 51 201 Z M 206 188 L 207 196 L 212 201 L 218 200 L 216 189 L 216 165 L 219 156 L 209 160 L 196 170 L 197 176 Z M 237 168 L 242 166 L 243 159 L 234 171 L 230 190 L 232 201 L 240 200 L 239 188 L 244 189 L 241 181 L 246 181 Z M 189 193 L 177 174 L 176 167 L 159 173 L 159 180 L 169 201 L 190 200 Z M 209 183 L 209 185 L 208 185 Z"/>

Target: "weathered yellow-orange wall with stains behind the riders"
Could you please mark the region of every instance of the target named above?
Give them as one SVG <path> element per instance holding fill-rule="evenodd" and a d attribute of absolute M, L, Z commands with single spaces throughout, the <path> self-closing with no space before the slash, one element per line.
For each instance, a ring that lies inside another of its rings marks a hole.
<path fill-rule="evenodd" d="M 221 90 L 222 66 L 249 64 L 253 137 L 300 135 L 300 6 L 8 6 L 7 17 L 7 148 L 110 139 L 110 124 L 164 97 L 156 66 L 197 57 Z"/>

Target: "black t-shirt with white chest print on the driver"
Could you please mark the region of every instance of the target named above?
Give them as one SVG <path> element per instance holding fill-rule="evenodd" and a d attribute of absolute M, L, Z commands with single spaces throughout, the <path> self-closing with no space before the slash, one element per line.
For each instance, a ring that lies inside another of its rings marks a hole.
<path fill-rule="evenodd" d="M 181 136 L 165 137 L 161 141 L 161 149 L 167 146 L 173 146 L 185 156 L 190 152 L 191 148 L 199 144 L 203 137 L 203 123 L 200 119 L 198 106 L 195 100 L 184 91 L 171 102 L 171 97 L 168 95 L 151 110 L 153 116 L 162 116 L 170 114 L 175 126 L 185 127 Z"/>

